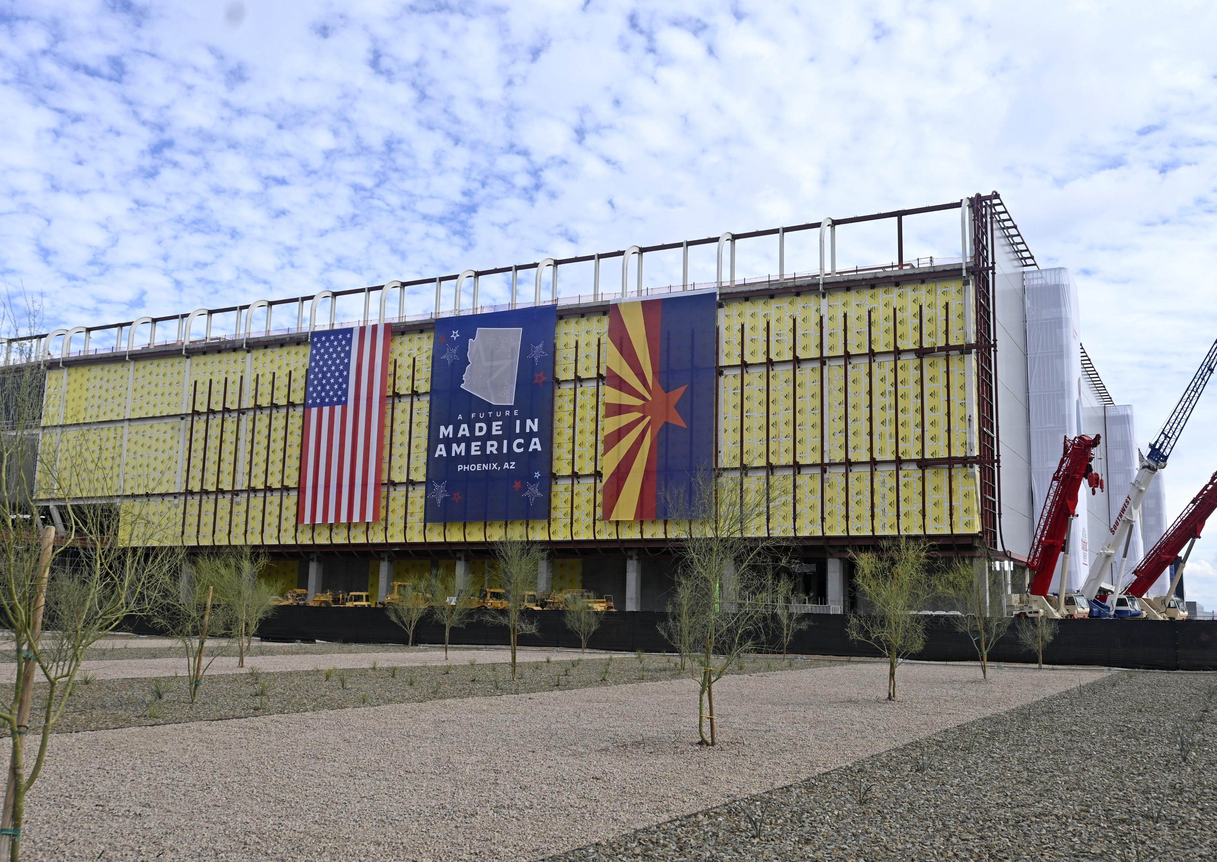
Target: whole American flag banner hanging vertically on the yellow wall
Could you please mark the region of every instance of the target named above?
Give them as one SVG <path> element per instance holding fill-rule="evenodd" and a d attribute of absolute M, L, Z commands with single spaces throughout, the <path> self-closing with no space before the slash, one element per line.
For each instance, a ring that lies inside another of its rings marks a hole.
<path fill-rule="evenodd" d="M 380 520 L 389 325 L 313 333 L 297 523 Z"/>

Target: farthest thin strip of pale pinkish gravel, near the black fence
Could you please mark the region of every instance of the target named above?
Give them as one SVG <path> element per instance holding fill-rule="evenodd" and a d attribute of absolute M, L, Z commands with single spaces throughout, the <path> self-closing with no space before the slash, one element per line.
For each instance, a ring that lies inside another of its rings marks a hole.
<path fill-rule="evenodd" d="M 320 646 L 320 644 L 318 644 Z M 342 646 L 342 644 L 327 644 Z M 124 678 L 152 678 L 184 676 L 186 674 L 186 658 L 179 648 L 169 653 L 166 658 L 144 658 L 144 650 L 130 650 L 135 655 L 129 655 L 128 650 L 113 650 L 117 655 L 111 658 L 90 659 L 80 665 L 82 672 L 92 674 L 97 680 L 124 680 Z M 208 655 L 211 655 L 208 649 Z M 573 653 L 577 654 L 577 653 Z M 589 655 L 606 655 L 607 653 L 589 653 Z M 461 649 L 450 648 L 449 663 L 465 664 L 467 659 L 475 659 L 478 664 L 510 663 L 511 650 L 506 647 L 465 647 Z M 570 658 L 572 652 L 554 649 L 528 649 L 516 650 L 516 661 L 544 661 L 546 658 Z M 617 653 L 622 655 L 622 653 Z M 221 674 L 246 674 L 251 669 L 259 671 L 290 671 L 313 670 L 315 667 L 371 667 L 372 663 L 378 666 L 409 667 L 420 665 L 442 665 L 445 663 L 443 647 L 393 647 L 391 649 L 374 650 L 313 650 L 308 653 L 291 653 L 277 655 L 247 655 L 245 667 L 237 666 L 236 655 L 228 653 L 219 655 L 212 663 L 207 675 L 219 676 Z M 0 684 L 12 682 L 17 675 L 17 664 L 0 665 Z"/>

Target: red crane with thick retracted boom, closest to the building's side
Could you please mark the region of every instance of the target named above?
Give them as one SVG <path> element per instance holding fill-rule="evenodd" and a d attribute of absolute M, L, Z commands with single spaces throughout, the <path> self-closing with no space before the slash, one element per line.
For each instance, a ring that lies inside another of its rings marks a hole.
<path fill-rule="evenodd" d="M 1027 557 L 1027 592 L 1006 597 L 1006 608 L 1015 616 L 1087 618 L 1090 605 L 1083 597 L 1065 592 L 1069 585 L 1069 536 L 1073 518 L 1077 517 L 1077 498 L 1084 481 L 1090 494 L 1103 490 L 1103 478 L 1094 472 L 1094 450 L 1101 435 L 1078 434 L 1065 438 L 1061 460 L 1053 473 L 1044 496 L 1044 508 L 1039 513 L 1036 535 L 1031 540 Z M 1061 563 L 1061 588 L 1049 596 L 1048 588 L 1056 573 L 1056 560 Z"/>

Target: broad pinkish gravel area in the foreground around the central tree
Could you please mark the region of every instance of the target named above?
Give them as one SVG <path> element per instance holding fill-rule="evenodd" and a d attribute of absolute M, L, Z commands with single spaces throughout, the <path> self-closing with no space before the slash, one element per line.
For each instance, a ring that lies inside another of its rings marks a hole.
<path fill-rule="evenodd" d="M 24 857 L 535 858 L 1103 676 L 901 672 L 896 704 L 877 663 L 728 677 L 714 750 L 690 680 L 61 734 Z"/>

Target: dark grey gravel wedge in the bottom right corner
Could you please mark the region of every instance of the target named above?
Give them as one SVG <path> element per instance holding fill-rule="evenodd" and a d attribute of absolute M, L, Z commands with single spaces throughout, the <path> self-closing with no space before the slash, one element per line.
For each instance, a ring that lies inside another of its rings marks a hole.
<path fill-rule="evenodd" d="M 1215 731 L 1217 675 L 1116 674 L 550 862 L 1212 860 Z"/>

